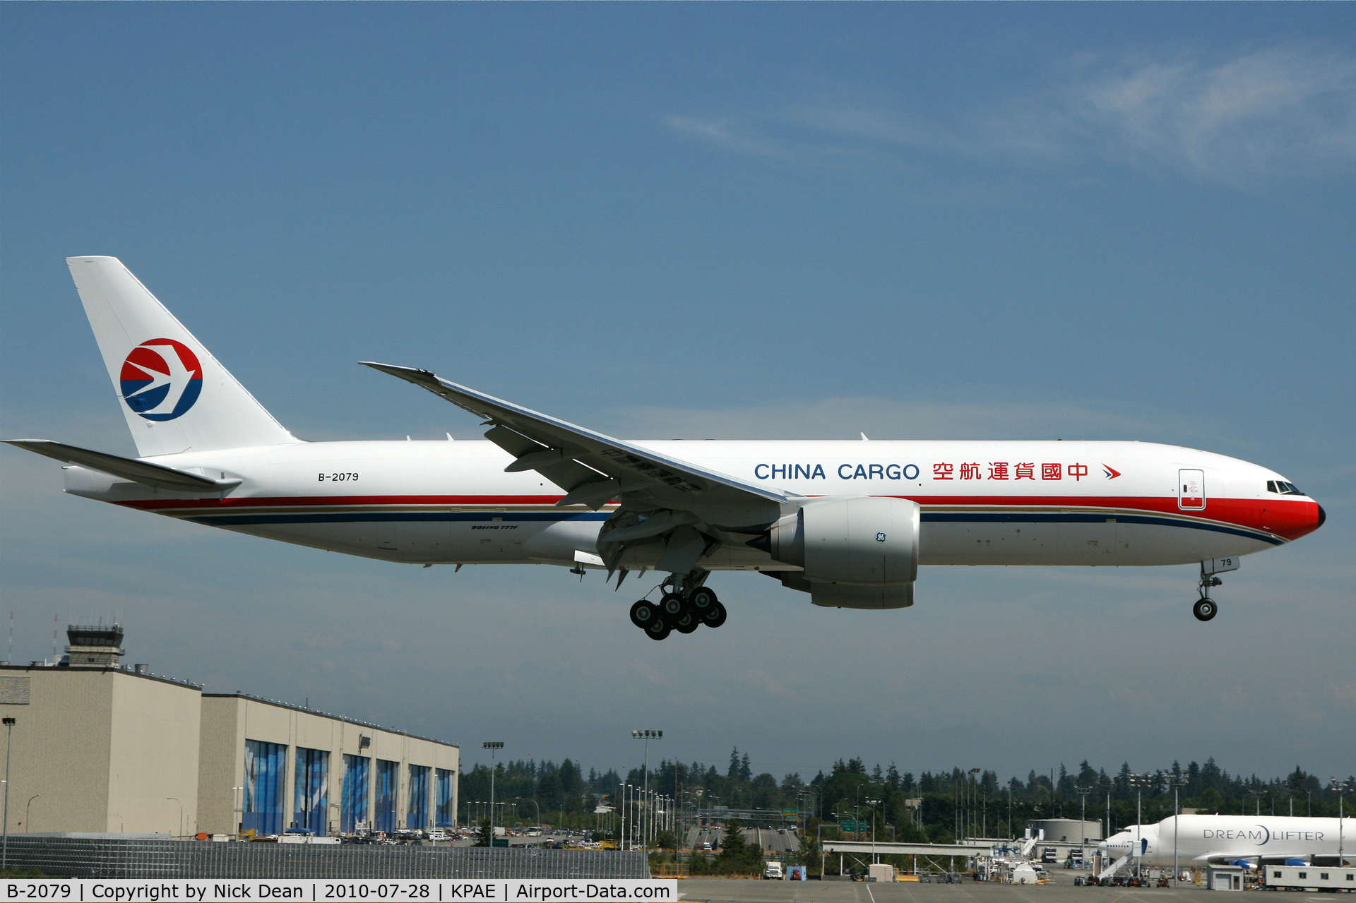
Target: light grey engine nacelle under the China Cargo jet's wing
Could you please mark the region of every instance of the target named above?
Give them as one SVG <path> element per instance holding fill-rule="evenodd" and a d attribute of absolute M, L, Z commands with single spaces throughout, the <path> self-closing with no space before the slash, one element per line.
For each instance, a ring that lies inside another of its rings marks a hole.
<path fill-rule="evenodd" d="M 902 609 L 918 578 L 918 503 L 883 496 L 807 502 L 770 530 L 772 557 L 804 568 L 781 582 L 815 605 Z"/>

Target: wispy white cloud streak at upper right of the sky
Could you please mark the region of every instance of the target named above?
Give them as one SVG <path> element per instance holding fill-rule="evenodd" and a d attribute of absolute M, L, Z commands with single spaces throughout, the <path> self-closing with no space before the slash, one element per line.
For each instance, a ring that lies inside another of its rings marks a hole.
<path fill-rule="evenodd" d="M 1115 161 L 1242 184 L 1356 164 L 1356 58 L 1292 45 L 1214 58 L 1086 56 L 949 117 L 838 89 L 666 122 L 725 150 L 800 164 Z"/>

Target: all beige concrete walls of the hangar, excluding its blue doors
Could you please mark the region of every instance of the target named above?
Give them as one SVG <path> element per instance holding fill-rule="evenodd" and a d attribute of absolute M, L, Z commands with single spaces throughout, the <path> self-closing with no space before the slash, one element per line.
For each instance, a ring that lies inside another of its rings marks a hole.
<path fill-rule="evenodd" d="M 343 755 L 370 759 L 367 812 L 376 814 L 376 759 L 400 763 L 396 824 L 405 826 L 410 765 L 453 773 L 460 750 L 247 697 L 203 697 L 198 687 L 121 670 L 0 667 L 28 683 L 28 702 L 0 702 L 15 717 L 9 831 L 232 834 L 240 823 L 245 740 L 287 747 L 283 824 L 294 803 L 297 748 L 330 752 L 327 828 L 339 828 Z M 15 698 L 0 696 L 0 698 Z M 370 738 L 363 747 L 361 739 Z M 0 731 L 0 742 L 4 732 Z M 28 797 L 33 823 L 26 824 Z M 174 797 L 174 799 L 171 799 Z M 178 801 L 175 801 L 178 800 Z M 434 816 L 437 771 L 426 809 Z"/>

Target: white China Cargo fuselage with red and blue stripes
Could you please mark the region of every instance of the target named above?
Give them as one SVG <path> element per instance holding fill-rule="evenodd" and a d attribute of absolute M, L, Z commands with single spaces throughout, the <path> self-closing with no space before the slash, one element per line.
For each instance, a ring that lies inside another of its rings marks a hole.
<path fill-rule="evenodd" d="M 1317 529 L 1318 504 L 1268 491 L 1246 461 L 1143 442 L 644 441 L 805 496 L 890 495 L 922 508 L 921 564 L 1188 564 Z M 389 561 L 575 565 L 613 506 L 563 492 L 484 442 L 293 442 L 145 458 L 241 483 L 156 491 L 71 466 L 66 491 L 271 540 Z M 635 552 L 632 555 L 643 555 Z M 654 561 L 622 561 L 645 568 Z M 795 569 L 727 542 L 708 569 Z"/>

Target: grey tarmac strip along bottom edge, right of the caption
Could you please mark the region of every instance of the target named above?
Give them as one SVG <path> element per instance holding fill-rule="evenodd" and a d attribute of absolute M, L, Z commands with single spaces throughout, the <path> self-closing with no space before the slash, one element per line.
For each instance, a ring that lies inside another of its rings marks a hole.
<path fill-rule="evenodd" d="M 1204 888 L 1124 888 L 1075 887 L 1070 877 L 1058 884 L 917 884 L 899 881 L 738 881 L 730 879 L 683 879 L 678 881 L 682 900 L 700 903 L 1169 903 Z M 1218 894 L 1219 891 L 1207 891 Z M 1332 896 L 1306 894 L 1306 900 L 1330 903 Z M 1299 895 L 1287 903 L 1302 903 Z"/>

